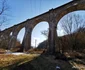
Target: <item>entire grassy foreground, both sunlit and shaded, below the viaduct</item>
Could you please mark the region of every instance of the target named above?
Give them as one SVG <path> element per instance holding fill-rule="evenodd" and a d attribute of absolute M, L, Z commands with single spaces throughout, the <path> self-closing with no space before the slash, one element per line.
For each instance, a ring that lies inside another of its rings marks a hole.
<path fill-rule="evenodd" d="M 85 70 L 85 59 L 72 59 L 69 61 L 55 59 L 52 55 L 24 54 L 11 55 L 0 54 L 0 70 Z M 77 68 L 75 68 L 77 67 Z"/>

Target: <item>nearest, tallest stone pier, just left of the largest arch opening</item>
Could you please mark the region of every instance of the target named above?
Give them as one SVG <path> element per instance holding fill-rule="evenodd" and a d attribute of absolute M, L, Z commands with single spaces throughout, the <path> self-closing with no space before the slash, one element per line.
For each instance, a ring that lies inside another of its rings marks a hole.
<path fill-rule="evenodd" d="M 49 54 L 55 54 L 55 46 L 56 46 L 56 36 L 57 36 L 57 31 L 56 31 L 56 21 L 50 21 L 49 22 L 49 35 L 48 35 L 48 52 Z"/>

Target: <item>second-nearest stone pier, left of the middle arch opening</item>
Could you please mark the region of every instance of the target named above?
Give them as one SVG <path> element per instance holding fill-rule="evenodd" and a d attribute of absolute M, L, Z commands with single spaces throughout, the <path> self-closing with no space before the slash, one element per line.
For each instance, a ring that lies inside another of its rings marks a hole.
<path fill-rule="evenodd" d="M 26 28 L 23 39 L 24 51 L 27 52 L 31 48 L 31 28 Z"/>

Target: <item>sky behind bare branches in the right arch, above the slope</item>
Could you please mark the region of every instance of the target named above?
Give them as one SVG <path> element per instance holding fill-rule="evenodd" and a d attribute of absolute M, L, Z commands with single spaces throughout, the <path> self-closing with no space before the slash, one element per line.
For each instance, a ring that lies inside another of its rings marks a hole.
<path fill-rule="evenodd" d="M 58 36 L 74 33 L 80 27 L 84 28 L 85 27 L 84 18 L 85 18 L 85 11 L 82 10 L 70 12 L 64 15 L 57 24 Z"/>

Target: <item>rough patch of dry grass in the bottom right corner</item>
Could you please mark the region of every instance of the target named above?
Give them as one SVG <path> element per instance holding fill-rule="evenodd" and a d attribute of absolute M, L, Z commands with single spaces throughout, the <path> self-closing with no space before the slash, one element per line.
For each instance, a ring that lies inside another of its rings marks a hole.
<path fill-rule="evenodd" d="M 69 52 L 65 53 L 65 55 L 68 57 L 73 58 L 72 60 L 69 60 L 70 64 L 77 68 L 78 70 L 85 70 L 85 54 L 80 52 Z"/>

